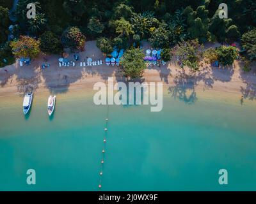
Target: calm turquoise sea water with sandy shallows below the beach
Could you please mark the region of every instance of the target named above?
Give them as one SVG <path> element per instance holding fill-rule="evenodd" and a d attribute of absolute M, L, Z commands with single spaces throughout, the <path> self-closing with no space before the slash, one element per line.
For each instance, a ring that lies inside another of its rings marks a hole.
<path fill-rule="evenodd" d="M 28 118 L 20 96 L 0 100 L 1 191 L 98 190 L 107 106 L 82 92 L 57 94 L 51 119 L 47 94 L 35 94 Z M 168 94 L 162 112 L 109 106 L 102 190 L 255 191 L 255 113 L 253 103 L 198 98 L 189 105 Z M 29 168 L 36 185 L 26 184 Z"/>

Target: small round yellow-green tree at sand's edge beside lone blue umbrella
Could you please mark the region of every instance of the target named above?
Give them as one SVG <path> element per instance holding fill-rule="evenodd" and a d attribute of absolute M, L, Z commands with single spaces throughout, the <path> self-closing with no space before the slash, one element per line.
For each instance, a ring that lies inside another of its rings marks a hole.
<path fill-rule="evenodd" d="M 233 46 L 221 46 L 218 47 L 218 60 L 223 66 L 232 65 L 235 59 L 237 59 L 237 48 Z"/>

